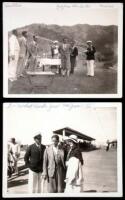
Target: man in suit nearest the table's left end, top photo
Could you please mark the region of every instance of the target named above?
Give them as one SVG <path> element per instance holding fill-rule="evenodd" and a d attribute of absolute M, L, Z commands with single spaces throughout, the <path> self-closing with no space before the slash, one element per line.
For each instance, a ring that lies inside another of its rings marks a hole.
<path fill-rule="evenodd" d="M 37 56 L 39 52 L 38 48 L 38 38 L 34 35 L 32 42 L 28 45 L 28 52 L 29 52 L 29 69 L 31 71 L 35 71 L 36 67 L 38 66 L 37 63 Z"/>

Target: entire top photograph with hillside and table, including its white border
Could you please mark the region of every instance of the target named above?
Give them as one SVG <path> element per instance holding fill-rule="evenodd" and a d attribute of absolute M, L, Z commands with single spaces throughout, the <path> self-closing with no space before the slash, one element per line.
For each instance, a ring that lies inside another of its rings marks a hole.
<path fill-rule="evenodd" d="M 122 3 L 3 3 L 5 97 L 122 97 Z"/>

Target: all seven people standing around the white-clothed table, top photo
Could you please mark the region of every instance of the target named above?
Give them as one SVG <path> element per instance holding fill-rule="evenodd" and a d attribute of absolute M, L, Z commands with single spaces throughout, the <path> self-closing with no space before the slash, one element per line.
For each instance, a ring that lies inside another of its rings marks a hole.
<path fill-rule="evenodd" d="M 87 41 L 87 48 L 84 51 L 87 59 L 87 76 L 94 76 L 95 47 L 92 41 Z M 9 38 L 9 80 L 15 81 L 19 77 L 25 76 L 25 69 L 28 66 L 30 70 L 35 70 L 38 66 L 38 38 L 33 35 L 28 43 L 28 33 L 23 31 L 21 37 L 18 36 L 17 30 L 13 30 Z M 59 44 L 56 40 L 51 45 L 51 58 L 61 59 L 61 65 L 57 67 L 57 73 L 62 76 L 69 76 L 74 73 L 78 48 L 75 41 L 68 42 L 67 38 Z"/>

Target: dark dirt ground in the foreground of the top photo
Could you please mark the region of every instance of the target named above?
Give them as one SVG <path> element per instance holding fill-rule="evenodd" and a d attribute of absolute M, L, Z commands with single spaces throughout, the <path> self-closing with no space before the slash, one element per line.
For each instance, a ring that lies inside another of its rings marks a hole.
<path fill-rule="evenodd" d="M 8 83 L 9 94 L 116 94 L 117 70 L 104 69 L 96 63 L 95 76 L 86 76 L 86 66 L 79 60 L 70 77 L 26 76 Z"/>

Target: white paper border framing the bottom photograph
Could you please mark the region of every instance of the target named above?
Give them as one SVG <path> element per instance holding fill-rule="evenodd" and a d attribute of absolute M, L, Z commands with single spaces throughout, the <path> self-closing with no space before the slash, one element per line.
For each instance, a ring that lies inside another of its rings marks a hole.
<path fill-rule="evenodd" d="M 58 102 L 55 102 L 58 103 Z M 7 194 L 7 133 L 4 131 L 4 127 L 6 126 L 6 115 L 5 115 L 5 106 L 15 105 L 18 106 L 20 103 L 4 103 L 3 104 L 3 177 L 2 177 L 2 195 L 4 198 L 23 198 L 23 197 L 122 197 L 123 195 L 123 180 L 122 180 L 122 104 L 121 103 L 97 103 L 97 102 L 88 102 L 88 103 L 79 103 L 79 102 L 66 102 L 66 104 L 81 104 L 85 107 L 100 107 L 100 108 L 116 108 L 117 109 L 117 192 L 107 192 L 107 193 L 99 193 L 99 192 L 87 192 L 87 193 L 42 193 L 42 194 Z M 46 104 L 45 103 L 21 103 L 21 105 L 38 105 L 38 104 Z M 54 104 L 54 103 L 47 103 Z M 65 104 L 64 102 L 59 104 Z M 10 109 L 10 108 L 9 108 Z"/>

